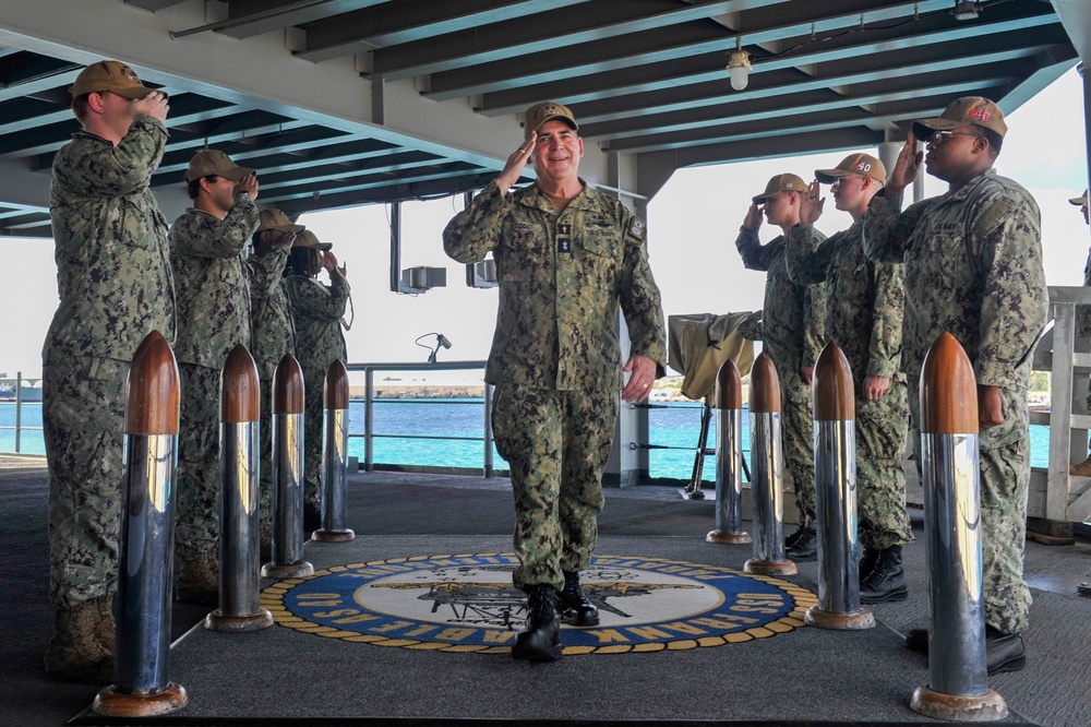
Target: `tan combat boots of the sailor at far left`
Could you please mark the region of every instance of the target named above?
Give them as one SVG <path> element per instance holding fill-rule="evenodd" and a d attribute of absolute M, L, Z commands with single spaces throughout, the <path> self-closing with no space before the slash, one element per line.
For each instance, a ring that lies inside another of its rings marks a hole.
<path fill-rule="evenodd" d="M 113 681 L 112 596 L 57 609 L 53 635 L 46 646 L 46 674 L 86 684 Z"/>

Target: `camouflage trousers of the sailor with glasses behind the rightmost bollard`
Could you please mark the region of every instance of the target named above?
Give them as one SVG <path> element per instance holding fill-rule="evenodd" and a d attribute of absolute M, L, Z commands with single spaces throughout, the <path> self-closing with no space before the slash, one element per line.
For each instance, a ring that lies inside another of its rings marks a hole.
<path fill-rule="evenodd" d="M 910 386 L 913 421 L 920 422 L 916 382 Z M 1030 492 L 1030 415 L 1027 392 L 1000 390 L 1004 424 L 978 436 L 981 472 L 981 562 L 985 623 L 1003 633 L 1030 623 L 1030 587 L 1022 577 Z M 914 442 L 921 470 L 920 438 Z"/>

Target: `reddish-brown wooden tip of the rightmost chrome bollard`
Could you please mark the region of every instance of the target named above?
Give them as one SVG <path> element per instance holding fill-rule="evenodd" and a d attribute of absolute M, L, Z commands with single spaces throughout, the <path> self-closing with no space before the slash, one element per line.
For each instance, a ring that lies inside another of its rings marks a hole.
<path fill-rule="evenodd" d="M 978 421 L 973 367 L 955 336 L 942 333 L 921 366 L 921 431 L 972 434 Z"/>

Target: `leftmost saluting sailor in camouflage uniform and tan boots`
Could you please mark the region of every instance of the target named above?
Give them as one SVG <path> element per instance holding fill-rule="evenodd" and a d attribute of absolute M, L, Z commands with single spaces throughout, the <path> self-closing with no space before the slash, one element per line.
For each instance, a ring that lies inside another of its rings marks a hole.
<path fill-rule="evenodd" d="M 99 61 L 72 85 L 82 130 L 53 159 L 49 211 L 60 302 L 43 357 L 49 465 L 47 674 L 113 679 L 125 381 L 133 353 L 175 337 L 167 221 L 148 189 L 167 143 L 167 97 Z"/>

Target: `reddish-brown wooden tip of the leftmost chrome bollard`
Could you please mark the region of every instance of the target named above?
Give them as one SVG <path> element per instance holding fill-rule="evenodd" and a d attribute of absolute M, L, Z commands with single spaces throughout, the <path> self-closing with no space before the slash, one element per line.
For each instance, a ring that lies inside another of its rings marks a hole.
<path fill-rule="evenodd" d="M 127 434 L 177 434 L 178 364 L 158 331 L 147 334 L 129 366 L 125 400 Z"/>

